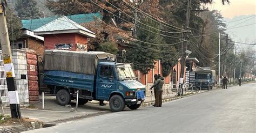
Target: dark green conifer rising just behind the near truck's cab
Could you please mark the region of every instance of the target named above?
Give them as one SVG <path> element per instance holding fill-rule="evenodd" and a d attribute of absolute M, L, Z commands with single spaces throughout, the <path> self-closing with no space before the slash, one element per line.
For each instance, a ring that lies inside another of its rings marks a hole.
<path fill-rule="evenodd" d="M 148 24 L 152 27 L 159 28 L 156 23 L 151 23 L 151 19 L 145 18 L 143 23 Z M 140 25 L 143 28 L 149 29 L 150 31 L 159 33 L 156 29 L 146 27 L 145 25 Z M 162 36 L 153 34 L 152 32 L 145 31 L 145 29 L 137 27 L 137 38 L 140 41 L 131 42 L 131 47 L 127 50 L 126 61 L 134 64 L 134 68 L 142 71 L 144 74 L 149 73 L 150 70 L 154 68 L 156 60 L 160 56 L 160 46 L 152 45 L 164 44 L 164 39 Z M 149 43 L 145 43 L 149 42 Z"/>

